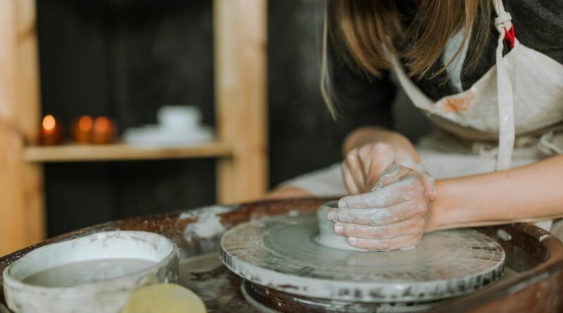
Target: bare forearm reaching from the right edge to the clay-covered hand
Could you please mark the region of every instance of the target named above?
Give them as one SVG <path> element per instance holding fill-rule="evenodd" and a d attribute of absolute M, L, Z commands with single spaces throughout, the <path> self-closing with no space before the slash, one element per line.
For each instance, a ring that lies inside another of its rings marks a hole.
<path fill-rule="evenodd" d="M 429 231 L 563 216 L 563 155 L 436 184 Z"/>

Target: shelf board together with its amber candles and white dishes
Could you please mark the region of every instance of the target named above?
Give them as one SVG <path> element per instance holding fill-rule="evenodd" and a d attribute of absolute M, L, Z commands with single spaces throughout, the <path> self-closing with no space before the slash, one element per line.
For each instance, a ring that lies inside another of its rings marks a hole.
<path fill-rule="evenodd" d="M 53 115 L 43 118 L 39 146 L 26 146 L 27 162 L 95 162 L 232 157 L 233 146 L 215 141 L 210 127 L 201 125 L 201 112 L 190 106 L 165 106 L 157 125 L 126 129 L 115 142 L 117 125 L 108 117 L 82 115 L 72 122 L 72 141 L 63 144 L 63 126 Z"/>

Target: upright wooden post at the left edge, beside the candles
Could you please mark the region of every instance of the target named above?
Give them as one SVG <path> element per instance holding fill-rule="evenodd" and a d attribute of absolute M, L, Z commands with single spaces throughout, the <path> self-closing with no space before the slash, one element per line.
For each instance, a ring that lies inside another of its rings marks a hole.
<path fill-rule="evenodd" d="M 39 115 L 34 1 L 0 1 L 0 255 L 45 237 L 42 167 L 23 161 Z"/>

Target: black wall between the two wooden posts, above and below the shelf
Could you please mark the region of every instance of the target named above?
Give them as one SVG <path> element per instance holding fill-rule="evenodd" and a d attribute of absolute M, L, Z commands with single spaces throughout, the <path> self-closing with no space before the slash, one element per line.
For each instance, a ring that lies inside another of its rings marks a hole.
<path fill-rule="evenodd" d="M 211 1 L 37 1 L 43 112 L 124 129 L 191 105 L 213 125 L 211 12 Z M 49 235 L 214 203 L 214 177 L 214 160 L 47 164 Z"/>

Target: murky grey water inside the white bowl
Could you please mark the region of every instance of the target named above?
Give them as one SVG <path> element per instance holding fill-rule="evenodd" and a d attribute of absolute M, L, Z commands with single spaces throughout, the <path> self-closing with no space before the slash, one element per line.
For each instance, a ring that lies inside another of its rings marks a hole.
<path fill-rule="evenodd" d="M 74 262 L 31 274 L 23 279 L 23 283 L 51 288 L 78 286 L 127 276 L 153 264 L 156 262 L 141 259 L 101 259 Z"/>

